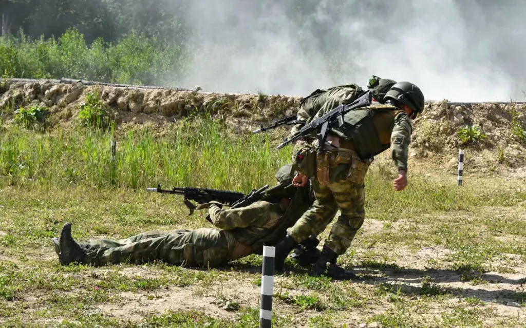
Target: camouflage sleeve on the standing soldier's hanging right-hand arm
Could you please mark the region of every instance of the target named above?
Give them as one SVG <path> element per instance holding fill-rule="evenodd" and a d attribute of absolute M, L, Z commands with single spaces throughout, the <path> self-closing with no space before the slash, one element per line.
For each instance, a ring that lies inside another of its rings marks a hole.
<path fill-rule="evenodd" d="M 411 133 L 411 122 L 407 114 L 401 112 L 395 116 L 395 123 L 391 132 L 391 156 L 398 170 L 406 172 Z"/>

